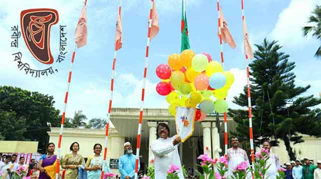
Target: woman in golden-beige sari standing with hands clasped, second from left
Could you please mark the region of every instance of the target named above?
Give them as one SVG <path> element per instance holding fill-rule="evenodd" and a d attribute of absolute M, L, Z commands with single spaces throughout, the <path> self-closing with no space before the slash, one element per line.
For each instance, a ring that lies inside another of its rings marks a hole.
<path fill-rule="evenodd" d="M 73 142 L 69 149 L 72 153 L 66 154 L 62 159 L 61 167 L 66 169 L 65 179 L 78 179 L 78 168 L 84 164 L 84 157 L 81 156 L 79 151 L 79 143 Z"/>

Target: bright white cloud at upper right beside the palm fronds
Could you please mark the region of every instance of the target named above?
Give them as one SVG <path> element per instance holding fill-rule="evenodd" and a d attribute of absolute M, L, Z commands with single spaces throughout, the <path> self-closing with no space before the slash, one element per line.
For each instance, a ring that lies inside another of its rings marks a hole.
<path fill-rule="evenodd" d="M 319 0 L 292 0 L 278 17 L 270 36 L 282 45 L 300 46 L 310 42 L 303 37 L 301 28 L 306 25 L 311 11 Z"/>

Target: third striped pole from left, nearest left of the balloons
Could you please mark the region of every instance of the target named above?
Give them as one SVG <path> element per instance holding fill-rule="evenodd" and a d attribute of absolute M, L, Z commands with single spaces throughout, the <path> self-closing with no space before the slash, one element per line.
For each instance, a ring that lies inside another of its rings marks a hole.
<path fill-rule="evenodd" d="M 150 0 L 150 10 L 148 18 L 148 32 L 147 32 L 147 44 L 146 44 L 146 54 L 145 54 L 145 67 L 143 74 L 143 84 L 141 88 L 141 102 L 140 102 L 140 111 L 139 111 L 139 121 L 138 121 L 138 130 L 137 130 L 137 148 L 136 148 L 136 163 L 135 163 L 135 179 L 137 179 L 138 174 L 138 162 L 139 162 L 139 149 L 140 149 L 140 136 L 141 136 L 141 123 L 142 123 L 142 114 L 144 107 L 144 96 L 145 96 L 145 87 L 146 87 L 146 75 L 147 75 L 147 66 L 148 66 L 148 49 L 150 42 L 150 32 L 151 32 L 151 23 L 152 23 L 152 8 L 154 0 Z"/>

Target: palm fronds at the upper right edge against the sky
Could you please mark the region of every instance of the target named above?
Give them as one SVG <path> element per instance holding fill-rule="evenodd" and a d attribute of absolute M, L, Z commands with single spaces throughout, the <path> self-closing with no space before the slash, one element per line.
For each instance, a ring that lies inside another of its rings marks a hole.
<path fill-rule="evenodd" d="M 312 36 L 316 37 L 316 39 L 321 40 L 321 5 L 316 5 L 307 22 L 313 23 L 314 25 L 304 26 L 302 28 L 304 36 L 307 36 L 307 34 L 312 33 Z M 317 48 L 314 56 L 321 58 L 321 45 Z"/>

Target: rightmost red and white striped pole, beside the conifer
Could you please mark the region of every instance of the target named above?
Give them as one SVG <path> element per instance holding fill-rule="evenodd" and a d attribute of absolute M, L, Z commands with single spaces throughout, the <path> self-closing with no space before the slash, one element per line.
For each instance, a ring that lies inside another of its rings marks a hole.
<path fill-rule="evenodd" d="M 242 22 L 245 23 L 245 15 L 244 15 L 244 0 L 241 0 L 242 3 Z M 248 55 L 245 53 L 245 60 L 247 62 L 246 64 L 246 81 L 247 81 L 247 98 L 248 98 L 248 107 L 249 107 L 249 133 L 250 133 L 250 146 L 251 146 L 251 160 L 252 160 L 252 168 L 254 169 L 254 143 L 253 143 L 253 128 L 252 128 L 252 105 L 251 105 L 251 87 L 250 87 L 250 70 L 249 70 L 249 59 Z M 254 175 L 252 173 L 252 177 L 254 178 Z"/>

